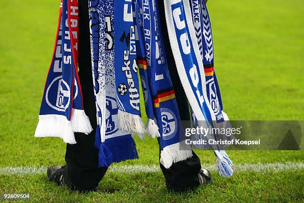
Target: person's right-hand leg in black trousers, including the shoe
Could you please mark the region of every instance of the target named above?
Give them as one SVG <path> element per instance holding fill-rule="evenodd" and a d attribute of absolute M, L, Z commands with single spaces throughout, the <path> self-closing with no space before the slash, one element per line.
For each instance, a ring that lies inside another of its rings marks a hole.
<path fill-rule="evenodd" d="M 167 32 L 163 0 L 158 0 L 158 8 L 167 61 L 174 61 Z M 172 80 L 173 89 L 175 92 L 175 98 L 179 109 L 180 119 L 190 120 L 188 100 L 180 82 L 175 63 L 168 63 L 168 69 Z M 169 169 L 166 169 L 162 164 L 159 165 L 165 177 L 167 188 L 176 192 L 195 188 L 204 183 L 208 183 L 211 180 L 211 175 L 209 172 L 207 173 L 206 171 L 204 171 L 205 169 L 201 171 L 200 158 L 194 152 L 191 158 L 174 163 Z M 202 174 L 204 172 L 205 174 Z"/>

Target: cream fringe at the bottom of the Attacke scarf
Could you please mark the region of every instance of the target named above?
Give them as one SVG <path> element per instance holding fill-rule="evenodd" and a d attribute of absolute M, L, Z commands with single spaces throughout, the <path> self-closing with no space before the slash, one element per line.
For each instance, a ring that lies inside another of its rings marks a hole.
<path fill-rule="evenodd" d="M 118 109 L 118 125 L 119 129 L 131 132 L 132 134 L 137 133 L 141 139 L 145 139 L 145 134 L 147 132 L 140 115 L 131 114 Z"/>

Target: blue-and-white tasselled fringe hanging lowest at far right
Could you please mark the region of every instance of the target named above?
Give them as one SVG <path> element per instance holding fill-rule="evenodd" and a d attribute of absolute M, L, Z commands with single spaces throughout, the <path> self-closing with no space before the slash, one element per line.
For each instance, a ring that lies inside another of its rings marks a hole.
<path fill-rule="evenodd" d="M 233 162 L 229 159 L 227 153 L 224 150 L 215 151 L 217 158 L 217 168 L 220 176 L 230 177 L 233 174 L 231 166 Z"/>

